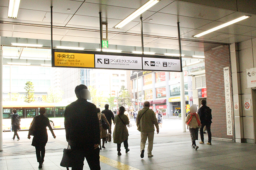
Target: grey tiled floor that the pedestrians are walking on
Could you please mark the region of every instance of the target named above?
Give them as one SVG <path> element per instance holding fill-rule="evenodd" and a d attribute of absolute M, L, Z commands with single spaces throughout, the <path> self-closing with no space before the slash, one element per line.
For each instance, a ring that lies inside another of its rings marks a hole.
<path fill-rule="evenodd" d="M 122 145 L 122 155 L 118 156 L 116 144 L 107 143 L 106 149 L 101 150 L 100 155 L 139 170 L 256 170 L 255 144 L 213 140 L 212 145 L 197 144 L 199 149 L 195 151 L 191 148 L 189 132 L 180 133 L 173 130 L 172 133 L 168 133 L 164 127 L 160 129 L 161 133 L 155 134 L 152 151 L 154 157 L 147 158 L 145 152 L 145 157 L 142 159 L 139 146 L 140 133 L 132 128 L 129 129 L 130 152 L 125 153 Z M 49 136 L 42 170 L 66 169 L 59 165 L 62 149 L 66 147 L 63 132 L 62 130 L 55 132 L 59 134 L 56 135 L 56 139 Z M 205 135 L 207 139 L 207 134 Z M 0 170 L 38 169 L 35 148 L 31 146 L 31 140 L 10 141 L 7 138 L 3 143 L 5 151 L 0 152 Z M 19 153 L 16 152 L 16 156 L 13 156 L 17 145 L 19 145 Z M 102 170 L 116 170 L 106 163 L 101 162 L 100 166 Z M 89 169 L 86 161 L 84 169 Z"/>

